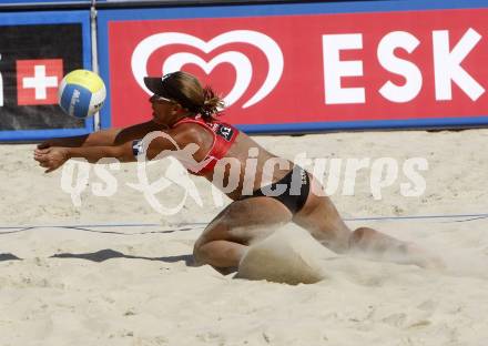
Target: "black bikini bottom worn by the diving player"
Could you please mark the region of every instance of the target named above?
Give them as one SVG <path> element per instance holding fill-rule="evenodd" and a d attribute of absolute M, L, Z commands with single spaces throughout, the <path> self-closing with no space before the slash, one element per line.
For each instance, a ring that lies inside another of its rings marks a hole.
<path fill-rule="evenodd" d="M 282 202 L 292 214 L 298 213 L 307 201 L 311 192 L 311 181 L 307 172 L 295 165 L 285 176 L 276 183 L 263 186 L 253 192 L 252 195 L 243 195 L 240 201 L 266 196 Z"/>

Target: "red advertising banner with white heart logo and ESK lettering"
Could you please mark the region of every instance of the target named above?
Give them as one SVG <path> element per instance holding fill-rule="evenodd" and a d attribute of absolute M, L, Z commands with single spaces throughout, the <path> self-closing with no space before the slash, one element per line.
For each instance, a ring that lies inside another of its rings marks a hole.
<path fill-rule="evenodd" d="M 411 3 L 101 11 L 102 125 L 151 119 L 142 80 L 175 70 L 221 92 L 225 119 L 252 132 L 488 123 L 488 9 Z"/>

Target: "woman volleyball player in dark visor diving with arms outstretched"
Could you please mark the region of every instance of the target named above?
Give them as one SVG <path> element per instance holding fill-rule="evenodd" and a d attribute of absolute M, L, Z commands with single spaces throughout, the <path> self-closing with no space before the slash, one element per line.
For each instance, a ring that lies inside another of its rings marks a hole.
<path fill-rule="evenodd" d="M 71 157 L 84 157 L 91 163 L 103 157 L 133 162 L 141 153 L 151 160 L 161 152 L 193 145 L 193 157 L 181 160 L 191 173 L 221 189 L 231 182 L 236 186 L 231 192 L 223 190 L 233 202 L 206 226 L 194 245 L 195 261 L 220 271 L 237 267 L 248 244 L 262 236 L 260 232 L 292 221 L 337 253 L 362 252 L 378 257 L 395 253 L 403 263 L 437 264 L 414 244 L 373 228 L 352 232 L 331 200 L 319 193 L 323 187 L 314 176 L 222 122 L 218 110 L 223 101 L 211 88 L 202 88 L 192 74 L 173 72 L 145 78 L 144 83 L 154 93 L 149 99 L 153 109 L 151 121 L 122 130 L 49 140 L 38 145 L 34 159 L 52 172 Z M 153 136 L 148 145 L 142 139 L 151 133 L 165 135 Z M 250 156 L 255 160 L 248 160 Z M 246 166 L 248 162 L 256 166 Z M 231 170 L 232 163 L 238 169 Z M 252 176 L 246 174 L 254 170 Z M 217 175 L 222 179 L 216 180 Z"/>

